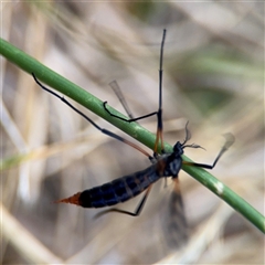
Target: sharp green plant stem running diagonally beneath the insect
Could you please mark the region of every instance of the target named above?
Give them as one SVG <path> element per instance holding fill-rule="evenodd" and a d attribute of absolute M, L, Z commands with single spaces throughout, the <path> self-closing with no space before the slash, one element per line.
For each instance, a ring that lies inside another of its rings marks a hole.
<path fill-rule="evenodd" d="M 52 70 L 47 68 L 30 55 L 25 54 L 24 52 L 2 39 L 0 39 L 0 54 L 2 54 L 7 60 L 14 63 L 25 72 L 30 74 L 34 73 L 41 82 L 61 92 L 67 97 L 71 97 L 72 99 L 88 108 L 96 115 L 109 121 L 112 125 L 134 137 L 145 146 L 149 147 L 150 149 L 153 148 L 156 140 L 156 136 L 153 134 L 151 134 L 136 123 L 128 124 L 117 118 L 113 118 L 104 109 L 102 100 L 91 95 L 88 92 L 84 91 L 80 86 L 62 77 L 61 75 L 56 74 Z M 33 78 L 32 82 L 34 82 Z M 108 107 L 112 113 L 125 117 L 123 114 L 118 113 L 110 106 Z M 172 147 L 168 144 L 165 144 L 165 147 L 166 151 L 172 151 Z M 186 161 L 191 161 L 186 156 L 182 156 L 182 158 Z M 183 166 L 182 168 L 191 177 L 197 179 L 200 183 L 205 186 L 213 193 L 215 193 L 227 204 L 230 204 L 235 211 L 240 212 L 243 216 L 245 216 L 258 230 L 265 233 L 265 218 L 246 201 L 244 201 L 241 197 L 234 193 L 229 187 L 224 186 L 222 182 L 220 182 L 216 178 L 214 178 L 212 174 L 210 174 L 202 168 L 188 166 Z"/>

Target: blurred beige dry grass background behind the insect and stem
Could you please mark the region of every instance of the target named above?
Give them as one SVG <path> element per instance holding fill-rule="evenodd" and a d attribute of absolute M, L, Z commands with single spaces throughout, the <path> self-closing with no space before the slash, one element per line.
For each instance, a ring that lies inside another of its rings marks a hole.
<path fill-rule="evenodd" d="M 236 141 L 212 173 L 264 214 L 264 3 L 12 1 L 1 9 L 4 40 L 124 113 L 108 85 L 117 81 L 136 117 L 157 110 L 166 28 L 165 139 L 182 141 L 189 120 L 192 142 L 206 151 L 186 155 L 211 163 L 231 131 Z M 264 264 L 262 233 L 183 171 L 190 241 L 182 248 L 167 225 L 171 181 L 152 188 L 138 218 L 94 219 L 99 210 L 53 204 L 149 160 L 3 57 L 1 66 L 2 264 Z M 140 124 L 156 131 L 156 117 Z M 139 201 L 118 206 L 134 211 Z"/>

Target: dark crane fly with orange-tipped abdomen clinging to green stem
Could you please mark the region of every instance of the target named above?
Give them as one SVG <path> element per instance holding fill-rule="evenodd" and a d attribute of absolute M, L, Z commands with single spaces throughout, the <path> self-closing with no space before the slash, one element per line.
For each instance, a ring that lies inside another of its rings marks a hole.
<path fill-rule="evenodd" d="M 156 137 L 156 142 L 153 147 L 153 155 L 150 156 L 148 152 L 146 152 L 144 149 L 140 147 L 136 146 L 135 144 L 121 138 L 120 136 L 106 130 L 102 127 L 99 127 L 97 124 L 95 124 L 89 117 L 87 117 L 85 114 L 80 112 L 77 108 L 75 108 L 70 102 L 67 102 L 64 97 L 61 97 L 60 95 L 55 94 L 53 91 L 46 88 L 43 86 L 36 78 L 36 76 L 32 73 L 36 84 L 42 87 L 44 91 L 51 93 L 55 97 L 59 97 L 63 103 L 68 105 L 72 109 L 74 109 L 76 113 L 82 115 L 87 121 L 89 121 L 95 128 L 100 130 L 103 134 L 113 137 L 119 141 L 123 141 L 135 149 L 139 150 L 142 152 L 145 156 L 147 156 L 150 161 L 151 166 L 140 170 L 138 172 L 120 177 L 112 182 L 107 182 L 103 186 L 98 186 L 88 190 L 84 190 L 82 192 L 77 192 L 74 195 L 56 201 L 57 203 L 64 202 L 64 203 L 72 203 L 76 204 L 83 208 L 105 208 L 105 206 L 112 206 L 120 202 L 128 201 L 129 199 L 142 193 L 144 197 L 140 201 L 140 203 L 137 205 L 136 210 L 134 212 L 116 209 L 116 208 L 110 208 L 105 211 L 99 212 L 100 214 L 105 214 L 107 212 L 119 212 L 124 214 L 128 214 L 131 216 L 137 216 L 140 214 L 146 200 L 148 198 L 148 194 L 151 190 L 152 184 L 158 181 L 161 178 L 168 178 L 172 177 L 172 179 L 176 182 L 176 200 L 181 201 L 180 197 L 180 191 L 179 191 L 179 184 L 178 184 L 178 173 L 181 169 L 182 165 L 187 165 L 190 167 L 200 167 L 200 168 L 206 168 L 206 169 L 213 169 L 221 158 L 221 156 L 229 149 L 229 147 L 233 144 L 234 137 L 231 134 L 226 135 L 226 141 L 222 149 L 220 150 L 218 157 L 215 158 L 214 162 L 212 165 L 204 165 L 204 163 L 197 163 L 197 162 L 188 162 L 183 161 L 181 158 L 181 155 L 183 155 L 184 148 L 201 148 L 198 145 L 188 145 L 188 141 L 191 138 L 191 134 L 188 129 L 188 123 L 186 125 L 186 138 L 183 142 L 177 141 L 176 145 L 173 146 L 173 151 L 168 153 L 165 151 L 163 148 L 163 137 L 162 137 L 162 61 L 163 61 L 163 46 L 165 46 L 165 39 L 166 39 L 166 30 L 163 30 L 163 35 L 162 35 L 162 41 L 161 41 L 161 46 L 160 46 L 160 62 L 159 62 L 159 107 L 158 110 L 141 117 L 132 118 L 130 116 L 130 119 L 125 119 L 123 117 L 116 116 L 112 114 L 108 108 L 107 108 L 107 102 L 103 104 L 105 110 L 114 116 L 115 118 L 121 119 L 125 123 L 131 123 L 136 121 L 152 115 L 157 115 L 157 137 Z M 117 86 L 117 84 L 113 84 L 113 86 Z M 121 104 L 124 103 L 123 98 L 119 98 Z M 125 106 L 125 104 L 123 104 Z M 125 109 L 127 113 L 129 113 L 128 108 L 125 106 Z M 161 155 L 158 153 L 158 146 L 161 146 Z M 182 208 L 182 201 L 181 201 L 181 206 Z"/>

